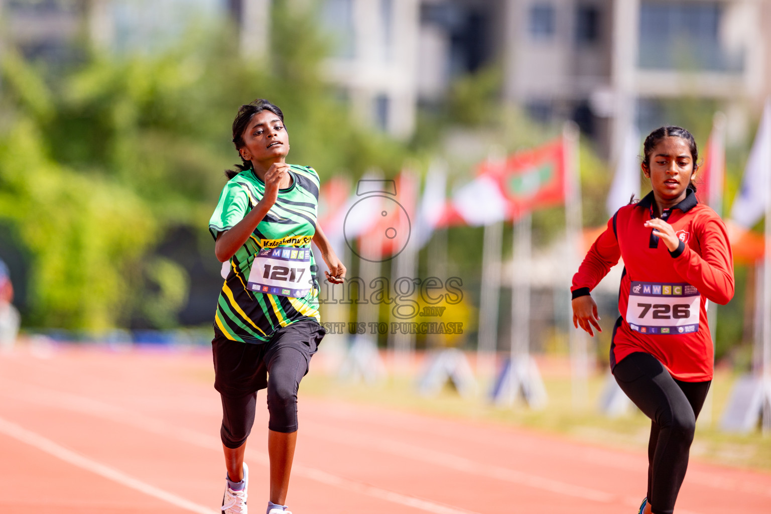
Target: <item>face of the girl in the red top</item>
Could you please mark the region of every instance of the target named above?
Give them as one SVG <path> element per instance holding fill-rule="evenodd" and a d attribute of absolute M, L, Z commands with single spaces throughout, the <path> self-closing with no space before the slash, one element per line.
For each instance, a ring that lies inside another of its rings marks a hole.
<path fill-rule="evenodd" d="M 648 166 L 642 163 L 642 173 L 651 180 L 656 197 L 681 200 L 696 167 L 688 142 L 682 137 L 667 136 L 651 151 Z"/>

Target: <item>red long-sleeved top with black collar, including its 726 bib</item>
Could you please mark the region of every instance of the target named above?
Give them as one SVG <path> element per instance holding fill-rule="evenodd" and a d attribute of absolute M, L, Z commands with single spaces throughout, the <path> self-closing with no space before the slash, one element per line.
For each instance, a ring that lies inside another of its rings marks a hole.
<path fill-rule="evenodd" d="M 623 257 L 621 317 L 611 338 L 611 369 L 628 354 L 643 351 L 661 361 L 678 380 L 712 380 L 714 350 L 705 304 L 707 300 L 727 304 L 734 291 L 726 225 L 689 190 L 685 200 L 662 213 L 680 239 L 679 247 L 670 252 L 644 226 L 652 218 L 654 201 L 649 193 L 608 220 L 608 228 L 574 275 L 571 291 L 574 298 L 590 294 Z"/>

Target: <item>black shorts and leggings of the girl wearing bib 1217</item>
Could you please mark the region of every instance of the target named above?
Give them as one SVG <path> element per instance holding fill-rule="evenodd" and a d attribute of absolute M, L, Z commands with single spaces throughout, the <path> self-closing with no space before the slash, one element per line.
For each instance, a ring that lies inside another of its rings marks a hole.
<path fill-rule="evenodd" d="M 222 398 L 220 436 L 227 448 L 246 442 L 254 425 L 257 391 L 264 388 L 268 388 L 268 428 L 297 431 L 298 388 L 324 335 L 324 328 L 315 321 L 280 328 L 264 344 L 231 341 L 216 334 L 214 388 Z"/>

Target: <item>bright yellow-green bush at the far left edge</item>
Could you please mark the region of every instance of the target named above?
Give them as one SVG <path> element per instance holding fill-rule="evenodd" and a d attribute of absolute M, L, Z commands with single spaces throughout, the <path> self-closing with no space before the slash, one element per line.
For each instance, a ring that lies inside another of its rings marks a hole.
<path fill-rule="evenodd" d="M 142 200 L 109 180 L 61 166 L 29 119 L 0 142 L 0 219 L 33 256 L 30 322 L 105 329 L 128 307 L 130 268 L 153 241 Z"/>

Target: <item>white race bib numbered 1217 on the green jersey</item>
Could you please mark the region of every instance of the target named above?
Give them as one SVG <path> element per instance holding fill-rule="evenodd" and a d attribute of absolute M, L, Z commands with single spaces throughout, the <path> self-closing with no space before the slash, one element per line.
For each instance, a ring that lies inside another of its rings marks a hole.
<path fill-rule="evenodd" d="M 247 288 L 267 294 L 301 298 L 313 284 L 311 249 L 263 248 L 254 257 Z"/>

